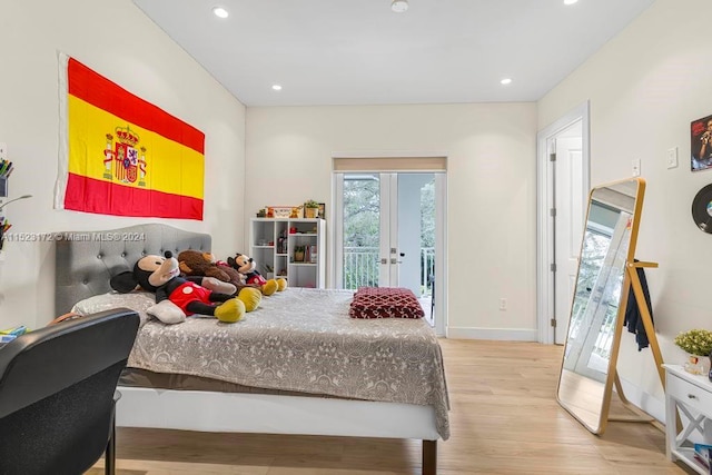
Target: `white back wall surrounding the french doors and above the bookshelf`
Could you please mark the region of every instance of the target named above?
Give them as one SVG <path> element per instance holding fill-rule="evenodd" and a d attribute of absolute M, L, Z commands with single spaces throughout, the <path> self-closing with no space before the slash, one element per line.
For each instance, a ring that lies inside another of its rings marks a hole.
<path fill-rule="evenodd" d="M 330 212 L 334 154 L 444 152 L 449 336 L 536 339 L 534 103 L 249 108 L 246 142 L 246 220 L 309 198 Z"/>

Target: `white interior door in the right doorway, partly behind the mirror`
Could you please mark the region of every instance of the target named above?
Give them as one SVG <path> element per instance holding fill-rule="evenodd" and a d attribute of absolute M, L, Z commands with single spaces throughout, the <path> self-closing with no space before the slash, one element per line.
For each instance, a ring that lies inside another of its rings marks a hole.
<path fill-rule="evenodd" d="M 553 139 L 554 165 L 554 343 L 566 339 L 576 286 L 587 190 L 583 181 L 581 122 Z"/>

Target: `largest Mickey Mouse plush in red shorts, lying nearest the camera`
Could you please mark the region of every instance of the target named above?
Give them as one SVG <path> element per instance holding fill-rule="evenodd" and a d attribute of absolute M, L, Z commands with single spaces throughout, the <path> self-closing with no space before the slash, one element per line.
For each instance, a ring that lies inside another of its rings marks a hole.
<path fill-rule="evenodd" d="M 132 271 L 113 276 L 110 285 L 121 294 L 128 294 L 137 286 L 155 293 L 155 307 L 159 308 L 154 308 L 151 314 L 164 323 L 179 323 L 192 314 L 210 315 L 220 321 L 235 323 L 245 315 L 245 304 L 233 297 L 237 290 L 234 285 L 212 277 L 184 278 L 179 274 L 178 260 L 167 250 L 165 257 L 144 256 L 136 263 Z M 182 314 L 182 319 L 180 314 L 176 316 L 177 309 Z"/>

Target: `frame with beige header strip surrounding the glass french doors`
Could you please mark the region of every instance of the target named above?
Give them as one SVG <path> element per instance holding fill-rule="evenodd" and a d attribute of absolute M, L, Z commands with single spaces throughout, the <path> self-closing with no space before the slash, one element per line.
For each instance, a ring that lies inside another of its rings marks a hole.
<path fill-rule="evenodd" d="M 437 336 L 447 337 L 447 154 L 437 152 L 393 152 L 384 151 L 376 154 L 352 154 L 342 152 L 333 154 L 332 158 L 355 158 L 355 159 L 373 159 L 373 158 L 398 158 L 404 160 L 417 160 L 418 158 L 432 158 L 442 157 L 445 161 L 444 169 L 428 169 L 426 168 L 408 168 L 393 170 L 360 170 L 363 172 L 404 172 L 404 174 L 417 174 L 417 172 L 431 172 L 435 174 L 435 195 L 439 197 L 436 201 L 435 208 L 435 275 L 437 276 L 437 291 L 435 293 L 435 326 L 434 330 Z M 337 275 L 337 260 L 340 259 L 342 249 L 344 246 L 344 229 L 338 226 L 337 222 L 343 219 L 340 211 L 336 209 L 336 202 L 338 202 L 338 196 L 344 195 L 343 179 L 339 179 L 339 175 L 344 175 L 348 171 L 332 170 L 332 212 L 329 217 L 333 219 L 334 225 L 329 226 L 327 231 L 328 241 L 328 268 L 329 278 L 328 287 L 335 288 L 340 274 Z"/>

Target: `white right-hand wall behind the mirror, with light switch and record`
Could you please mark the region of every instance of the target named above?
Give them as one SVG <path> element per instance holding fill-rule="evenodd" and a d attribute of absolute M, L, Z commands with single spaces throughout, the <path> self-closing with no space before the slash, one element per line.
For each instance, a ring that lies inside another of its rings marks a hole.
<path fill-rule="evenodd" d="M 647 190 L 636 257 L 660 263 L 646 277 L 669 363 L 683 362 L 672 343 L 679 331 L 712 329 L 712 235 L 691 216 L 692 199 L 712 171 L 690 171 L 690 122 L 712 113 L 711 17 L 709 0 L 657 0 L 538 103 L 543 129 L 591 101 L 593 185 L 631 176 L 631 160 L 641 159 Z M 672 147 L 680 166 L 668 169 Z M 620 360 L 622 378 L 663 398 L 650 349 L 637 353 L 631 334 L 623 335 Z"/>

